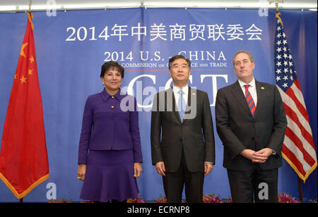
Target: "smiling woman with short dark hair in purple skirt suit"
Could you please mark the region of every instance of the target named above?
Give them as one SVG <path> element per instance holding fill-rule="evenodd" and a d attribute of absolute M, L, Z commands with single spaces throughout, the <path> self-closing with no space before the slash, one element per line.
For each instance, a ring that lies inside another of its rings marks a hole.
<path fill-rule="evenodd" d="M 88 97 L 78 147 L 81 199 L 126 202 L 138 197 L 141 142 L 136 99 L 120 91 L 124 68 L 110 61 L 102 65 L 105 89 Z"/>

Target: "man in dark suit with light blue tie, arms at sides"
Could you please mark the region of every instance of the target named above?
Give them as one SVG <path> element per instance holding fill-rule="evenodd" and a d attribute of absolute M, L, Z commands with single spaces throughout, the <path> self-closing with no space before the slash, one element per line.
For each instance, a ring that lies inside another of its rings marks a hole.
<path fill-rule="evenodd" d="M 215 162 L 208 95 L 188 86 L 190 66 L 184 56 L 170 58 L 173 86 L 153 99 L 151 156 L 169 203 L 182 202 L 184 184 L 187 202 L 201 203 L 204 176 Z"/>

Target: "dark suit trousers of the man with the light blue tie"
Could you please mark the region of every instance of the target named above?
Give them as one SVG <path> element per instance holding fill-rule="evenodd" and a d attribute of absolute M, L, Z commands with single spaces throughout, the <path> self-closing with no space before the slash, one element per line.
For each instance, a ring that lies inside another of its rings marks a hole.
<path fill-rule="evenodd" d="M 177 172 L 166 172 L 165 176 L 163 176 L 163 187 L 168 203 L 182 202 L 184 185 L 187 203 L 203 202 L 204 173 L 191 173 L 187 169 L 187 163 L 185 162 L 184 151 L 182 149 L 181 162 Z"/>

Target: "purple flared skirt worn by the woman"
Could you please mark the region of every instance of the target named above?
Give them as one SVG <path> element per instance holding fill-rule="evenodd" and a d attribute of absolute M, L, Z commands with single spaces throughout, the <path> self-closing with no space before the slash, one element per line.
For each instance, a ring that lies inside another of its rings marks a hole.
<path fill-rule="evenodd" d="M 137 198 L 138 193 L 133 149 L 89 151 L 81 199 L 123 201 Z"/>

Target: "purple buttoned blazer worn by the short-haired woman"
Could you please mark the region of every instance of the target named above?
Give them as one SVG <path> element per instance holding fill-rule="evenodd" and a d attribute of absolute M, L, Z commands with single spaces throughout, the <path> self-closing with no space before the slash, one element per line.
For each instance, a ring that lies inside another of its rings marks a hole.
<path fill-rule="evenodd" d="M 142 162 L 136 99 L 128 94 L 110 96 L 105 89 L 88 97 L 83 113 L 78 163 L 86 163 L 90 150 L 134 150 Z"/>

